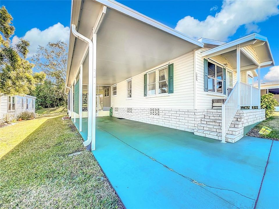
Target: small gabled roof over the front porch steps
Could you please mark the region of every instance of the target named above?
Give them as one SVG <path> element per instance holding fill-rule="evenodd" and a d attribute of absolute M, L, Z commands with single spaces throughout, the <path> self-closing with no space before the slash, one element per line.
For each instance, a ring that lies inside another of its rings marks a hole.
<path fill-rule="evenodd" d="M 257 66 L 267 67 L 274 65 L 267 38 L 257 33 L 221 44 L 220 46 L 202 52 L 201 55 L 205 58 L 221 55 L 236 70 L 236 46 L 238 44 L 241 48 L 241 71 L 253 70 Z"/>

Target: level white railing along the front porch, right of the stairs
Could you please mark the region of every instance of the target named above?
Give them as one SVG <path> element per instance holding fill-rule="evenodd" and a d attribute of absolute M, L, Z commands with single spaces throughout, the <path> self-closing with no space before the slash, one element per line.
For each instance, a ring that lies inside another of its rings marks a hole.
<path fill-rule="evenodd" d="M 260 106 L 260 89 L 240 82 L 240 106 Z"/>

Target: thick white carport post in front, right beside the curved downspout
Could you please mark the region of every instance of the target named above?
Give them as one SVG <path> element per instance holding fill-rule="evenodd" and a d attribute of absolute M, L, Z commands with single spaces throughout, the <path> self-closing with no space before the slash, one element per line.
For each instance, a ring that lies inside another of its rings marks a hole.
<path fill-rule="evenodd" d="M 92 79 L 92 92 L 95 96 L 93 97 L 93 104 L 96 105 L 96 61 L 97 61 L 97 34 L 93 34 L 93 79 Z M 93 108 L 92 108 L 93 109 Z M 96 135 L 96 109 L 94 108 L 94 114 L 92 114 L 92 141 L 91 150 L 95 150 L 95 135 Z"/>

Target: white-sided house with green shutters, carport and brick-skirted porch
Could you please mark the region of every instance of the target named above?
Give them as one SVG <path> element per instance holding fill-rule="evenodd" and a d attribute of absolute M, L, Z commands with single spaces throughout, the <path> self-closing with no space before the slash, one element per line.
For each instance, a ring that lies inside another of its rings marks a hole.
<path fill-rule="evenodd" d="M 93 150 L 95 116 L 108 107 L 115 117 L 236 142 L 265 118 L 252 109 L 260 107 L 253 77 L 272 65 L 267 38 L 256 33 L 195 40 L 116 1 L 72 1 L 65 93 L 80 131 L 88 118 L 84 145 Z"/>

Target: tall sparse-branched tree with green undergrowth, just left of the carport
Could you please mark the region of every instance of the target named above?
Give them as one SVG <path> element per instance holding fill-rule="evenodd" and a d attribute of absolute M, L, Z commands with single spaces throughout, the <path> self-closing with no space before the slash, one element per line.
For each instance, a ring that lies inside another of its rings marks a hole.
<path fill-rule="evenodd" d="M 38 70 L 46 74 L 44 84 L 36 86 L 35 96 L 37 107 L 58 107 L 67 104 L 67 95 L 64 94 L 67 44 L 58 41 L 49 42 L 46 47 L 39 46 L 37 53 L 32 57 L 32 62 Z"/>

